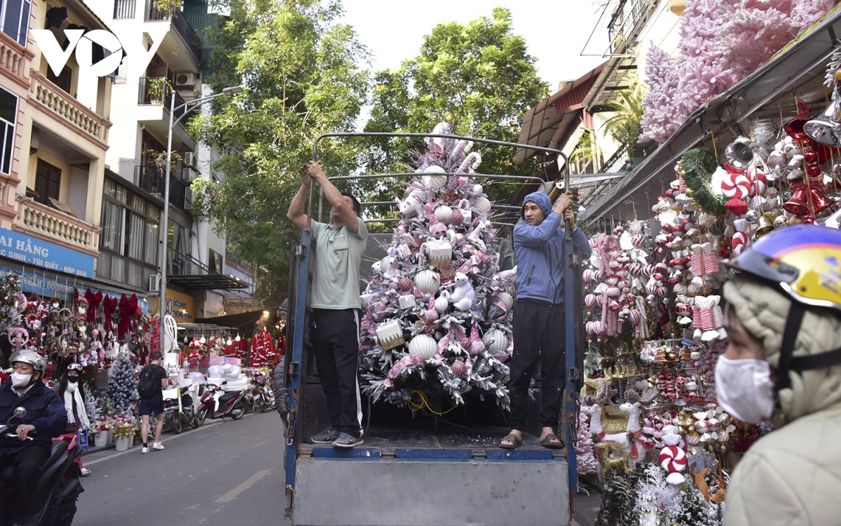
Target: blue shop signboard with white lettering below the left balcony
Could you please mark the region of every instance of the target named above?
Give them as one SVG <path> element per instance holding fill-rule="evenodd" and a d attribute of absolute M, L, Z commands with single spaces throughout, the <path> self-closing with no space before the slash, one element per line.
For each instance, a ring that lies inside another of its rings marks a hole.
<path fill-rule="evenodd" d="M 0 256 L 65 274 L 93 278 L 93 256 L 0 228 Z"/>

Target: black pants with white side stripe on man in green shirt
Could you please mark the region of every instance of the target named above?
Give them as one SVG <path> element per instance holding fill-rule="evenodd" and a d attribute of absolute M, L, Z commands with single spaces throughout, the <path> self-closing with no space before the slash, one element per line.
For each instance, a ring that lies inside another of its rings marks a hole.
<path fill-rule="evenodd" d="M 331 427 L 362 436 L 359 396 L 359 314 L 357 309 L 313 309 L 310 341 Z"/>

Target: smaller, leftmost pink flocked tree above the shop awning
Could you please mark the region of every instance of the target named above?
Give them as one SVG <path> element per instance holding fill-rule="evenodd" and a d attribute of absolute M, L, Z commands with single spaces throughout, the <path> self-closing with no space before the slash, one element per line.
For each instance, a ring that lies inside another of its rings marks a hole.
<path fill-rule="evenodd" d="M 652 45 L 645 61 L 645 74 L 648 77 L 648 95 L 643 100 L 645 113 L 640 124 L 643 135 L 640 141 L 653 139 L 664 142 L 680 125 L 677 120 L 674 93 L 678 88 L 678 69 L 669 54 L 656 45 Z"/>

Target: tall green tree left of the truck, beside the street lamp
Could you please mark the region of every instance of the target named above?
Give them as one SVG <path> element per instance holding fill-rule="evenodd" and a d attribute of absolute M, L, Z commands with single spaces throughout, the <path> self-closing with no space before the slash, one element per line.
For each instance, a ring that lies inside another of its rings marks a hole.
<path fill-rule="evenodd" d="M 208 30 L 209 80 L 217 91 L 236 85 L 245 91 L 217 99 L 211 118 L 190 123 L 193 134 L 218 149 L 214 170 L 225 173 L 218 182 L 193 183 L 193 213 L 212 220 L 258 269 L 257 296 L 273 311 L 286 296 L 289 243 L 299 238 L 286 219 L 298 169 L 318 135 L 352 130 L 367 98 L 368 72 L 359 65 L 368 51 L 337 22 L 338 2 L 220 3 L 230 15 Z M 319 154 L 328 175 L 355 167 L 341 141 L 322 141 Z"/>

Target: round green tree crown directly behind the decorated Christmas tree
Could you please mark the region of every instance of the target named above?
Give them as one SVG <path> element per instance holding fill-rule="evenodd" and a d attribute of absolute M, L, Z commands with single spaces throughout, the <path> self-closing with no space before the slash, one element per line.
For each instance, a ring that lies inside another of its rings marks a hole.
<path fill-rule="evenodd" d="M 429 132 L 439 122 L 457 135 L 516 142 L 523 114 L 547 97 L 526 40 L 511 29 L 508 9 L 468 24 L 436 25 L 421 54 L 394 70 L 378 72 L 366 131 Z M 406 151 L 424 151 L 421 141 L 369 141 L 362 163 L 369 173 L 402 172 L 413 164 Z M 513 148 L 476 145 L 483 173 L 532 175 L 533 162 L 515 164 Z M 379 190 L 383 190 L 380 186 Z M 491 197 L 510 192 L 489 189 Z M 387 192 L 381 198 L 392 197 Z M 372 196 L 373 198 L 373 196 Z"/>

